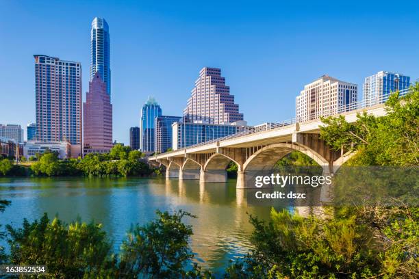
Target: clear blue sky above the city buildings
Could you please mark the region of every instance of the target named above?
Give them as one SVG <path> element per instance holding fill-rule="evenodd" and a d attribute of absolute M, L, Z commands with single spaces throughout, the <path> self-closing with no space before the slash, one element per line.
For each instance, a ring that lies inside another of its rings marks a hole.
<path fill-rule="evenodd" d="M 35 122 L 34 54 L 81 62 L 85 97 L 94 16 L 110 25 L 114 139 L 125 144 L 147 96 L 180 116 L 203 66 L 222 69 L 249 124 L 294 117 L 295 96 L 324 74 L 360 94 L 379 70 L 418 79 L 416 1 L 291 2 L 0 0 L 0 123 Z"/>

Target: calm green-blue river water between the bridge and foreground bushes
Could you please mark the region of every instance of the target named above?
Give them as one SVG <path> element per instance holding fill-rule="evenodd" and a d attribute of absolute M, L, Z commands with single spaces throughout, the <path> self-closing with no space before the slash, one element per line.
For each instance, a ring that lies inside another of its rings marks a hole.
<path fill-rule="evenodd" d="M 156 209 L 183 209 L 197 216 L 185 220 L 193 226 L 196 261 L 215 271 L 251 247 L 246 213 L 266 219 L 270 210 L 248 205 L 235 180 L 200 185 L 164 178 L 0 178 L 0 199 L 12 201 L 0 224 L 21 226 L 24 217 L 34 220 L 45 212 L 66 222 L 79 216 L 103 224 L 116 251 L 131 224 L 153 219 Z"/>

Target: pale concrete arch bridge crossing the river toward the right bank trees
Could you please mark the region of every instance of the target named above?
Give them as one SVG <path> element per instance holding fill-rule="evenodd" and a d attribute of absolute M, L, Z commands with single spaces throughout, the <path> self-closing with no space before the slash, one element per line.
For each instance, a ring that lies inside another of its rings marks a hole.
<path fill-rule="evenodd" d="M 361 107 L 361 108 L 359 108 Z M 355 122 L 357 114 L 367 111 L 374 116 L 385 116 L 383 103 L 359 105 L 343 115 L 348 122 Z M 227 181 L 227 165 L 238 165 L 237 187 L 246 187 L 251 173 L 270 170 L 279 159 L 298 150 L 322 166 L 325 175 L 336 172 L 340 165 L 353 156 L 345 150 L 331 150 L 322 139 L 319 119 L 306 122 L 288 121 L 266 124 L 260 129 L 251 129 L 210 142 L 188 146 L 149 158 L 150 163 L 166 167 L 166 178 L 179 180 L 196 179 L 200 183 L 223 183 Z"/>

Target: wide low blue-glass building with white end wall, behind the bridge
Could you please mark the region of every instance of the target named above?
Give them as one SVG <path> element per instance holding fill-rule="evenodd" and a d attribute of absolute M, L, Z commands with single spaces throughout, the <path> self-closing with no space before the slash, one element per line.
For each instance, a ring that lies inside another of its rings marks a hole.
<path fill-rule="evenodd" d="M 232 124 L 208 124 L 208 123 L 190 123 L 190 122 L 175 122 L 172 125 L 173 132 L 173 150 L 179 148 L 192 146 L 194 144 L 201 144 L 212 139 L 233 135 L 246 129 L 246 121 L 238 121 Z"/>

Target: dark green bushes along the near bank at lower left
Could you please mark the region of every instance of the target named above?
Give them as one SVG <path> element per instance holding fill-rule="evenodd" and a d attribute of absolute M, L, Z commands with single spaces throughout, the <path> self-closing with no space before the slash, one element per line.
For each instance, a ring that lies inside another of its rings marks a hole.
<path fill-rule="evenodd" d="M 131 228 L 118 255 L 101 225 L 50 221 L 45 213 L 39 221 L 24 220 L 22 228 L 7 226 L 9 263 L 47 265 L 48 274 L 38 278 L 210 278 L 191 262 L 186 216 L 194 217 L 157 211 L 155 220 Z"/>

